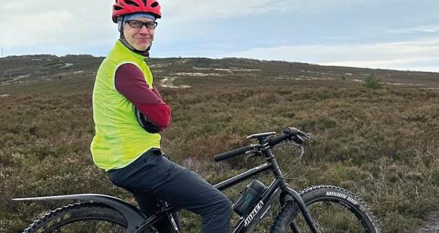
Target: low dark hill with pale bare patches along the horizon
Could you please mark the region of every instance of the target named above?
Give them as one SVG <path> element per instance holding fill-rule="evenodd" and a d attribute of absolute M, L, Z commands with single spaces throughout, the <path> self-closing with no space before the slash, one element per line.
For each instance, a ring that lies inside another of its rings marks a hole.
<path fill-rule="evenodd" d="M 90 82 L 94 80 L 97 67 L 103 59 L 89 55 L 62 57 L 33 55 L 1 58 L 0 87 L 2 88 L 0 91 L 8 90 L 8 86 L 11 85 L 19 91 L 22 86 L 59 87 L 58 83 L 64 84 L 66 82 L 77 82 L 80 85 L 78 89 L 89 87 Z M 236 79 L 246 83 L 248 78 L 259 79 L 258 81 L 263 79 L 263 82 L 268 79 L 362 82 L 371 71 L 374 71 L 388 85 L 439 88 L 439 74 L 429 72 L 372 70 L 243 58 L 216 60 L 209 58 L 152 58 L 148 60 L 148 64 L 150 64 L 156 80 L 161 80 L 167 86 L 172 86 L 173 81 L 180 78 L 186 78 L 185 82 L 188 83 L 209 83 L 210 79 L 215 79 L 217 82 L 222 82 L 220 79 Z M 62 79 L 69 80 L 60 82 L 59 80 Z M 52 85 L 44 84 L 48 81 L 51 81 Z M 58 88 L 56 89 L 58 90 Z"/>

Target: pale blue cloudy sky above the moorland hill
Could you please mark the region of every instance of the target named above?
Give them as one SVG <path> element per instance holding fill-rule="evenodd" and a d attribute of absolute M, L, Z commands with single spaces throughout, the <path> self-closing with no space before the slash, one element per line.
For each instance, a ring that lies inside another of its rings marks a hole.
<path fill-rule="evenodd" d="M 113 0 L 3 1 L 3 56 L 106 56 Z M 439 72 L 438 0 L 159 0 L 154 58 L 254 58 Z"/>

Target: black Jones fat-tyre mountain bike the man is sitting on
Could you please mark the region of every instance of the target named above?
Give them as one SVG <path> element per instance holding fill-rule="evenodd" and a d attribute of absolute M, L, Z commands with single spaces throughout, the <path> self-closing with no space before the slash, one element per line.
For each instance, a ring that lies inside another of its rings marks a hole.
<path fill-rule="evenodd" d="M 344 188 L 329 185 L 312 186 L 300 193 L 287 184 L 272 149 L 280 143 L 289 142 L 298 149 L 299 158 L 305 154 L 304 145 L 310 134 L 294 127 L 286 127 L 283 133 L 265 132 L 252 134 L 248 139 L 257 143 L 217 154 L 215 161 L 226 160 L 246 154 L 265 158 L 265 163 L 244 173 L 224 180 L 215 187 L 223 191 L 230 186 L 248 180 L 261 173 L 274 176 L 271 184 L 265 186 L 259 180 L 252 180 L 233 204 L 239 220 L 233 233 L 253 232 L 266 217 L 272 206 L 279 205 L 270 232 L 381 232 L 377 219 L 364 202 Z M 179 209 L 161 202 L 161 209 L 150 217 L 141 210 L 115 197 L 99 194 L 61 195 L 51 197 L 16 198 L 16 201 L 40 201 L 73 199 L 82 202 L 63 206 L 48 212 L 34 221 L 24 232 L 145 232 L 156 230 L 154 223 L 168 218 L 175 232 L 179 232 L 173 213 Z M 301 213 L 301 214 L 299 214 Z M 265 232 L 268 232 L 265 231 Z"/>

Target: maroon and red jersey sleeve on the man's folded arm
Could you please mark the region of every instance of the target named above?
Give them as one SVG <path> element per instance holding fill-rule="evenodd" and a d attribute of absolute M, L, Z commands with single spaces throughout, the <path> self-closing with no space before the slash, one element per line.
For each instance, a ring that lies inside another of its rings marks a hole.
<path fill-rule="evenodd" d="M 115 88 L 161 130 L 169 125 L 171 107 L 163 101 L 157 90 L 148 86 L 139 67 L 130 63 L 119 66 L 115 74 Z"/>

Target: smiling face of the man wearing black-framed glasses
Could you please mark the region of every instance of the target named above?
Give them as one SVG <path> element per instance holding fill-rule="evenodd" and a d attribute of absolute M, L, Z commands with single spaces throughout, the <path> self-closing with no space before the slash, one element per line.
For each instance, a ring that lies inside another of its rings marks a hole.
<path fill-rule="evenodd" d="M 141 21 L 143 23 L 151 22 L 152 19 L 148 18 L 136 18 L 135 21 Z M 139 51 L 145 51 L 148 47 L 150 47 L 152 41 L 154 40 L 154 28 L 147 28 L 145 25 L 142 25 L 141 28 L 132 27 L 129 23 L 125 23 L 123 26 L 123 35 L 126 40 L 134 49 Z"/>

